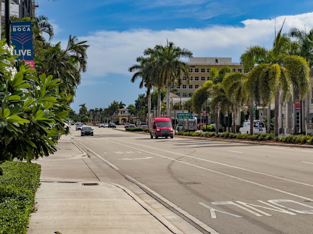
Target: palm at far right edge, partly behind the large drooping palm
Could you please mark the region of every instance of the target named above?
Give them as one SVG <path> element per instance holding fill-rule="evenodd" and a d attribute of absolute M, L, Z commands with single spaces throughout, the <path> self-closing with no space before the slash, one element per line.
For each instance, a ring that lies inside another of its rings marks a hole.
<path fill-rule="evenodd" d="M 297 28 L 291 28 L 289 30 L 288 35 L 290 37 L 296 38 L 297 41 L 294 41 L 292 45 L 294 45 L 294 48 L 290 54 L 300 55 L 306 59 L 310 66 L 310 80 L 313 76 L 313 29 L 310 30 L 309 33 L 307 33 L 305 30 L 299 30 Z M 293 89 L 293 97 L 299 96 L 299 93 L 296 93 L 298 89 L 294 87 Z M 293 100 L 294 106 L 295 106 L 295 98 Z M 305 96 L 305 117 L 306 122 L 310 122 L 310 93 L 307 92 Z M 301 110 L 302 111 L 302 110 Z M 294 123 L 296 124 L 296 123 Z M 296 128 L 296 127 L 295 127 Z"/>

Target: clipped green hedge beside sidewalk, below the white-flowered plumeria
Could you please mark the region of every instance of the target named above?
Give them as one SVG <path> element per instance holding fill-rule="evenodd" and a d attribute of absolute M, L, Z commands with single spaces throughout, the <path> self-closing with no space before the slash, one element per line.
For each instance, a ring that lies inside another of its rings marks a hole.
<path fill-rule="evenodd" d="M 39 186 L 41 166 L 36 163 L 5 162 L 0 176 L 0 233 L 26 233 Z"/>

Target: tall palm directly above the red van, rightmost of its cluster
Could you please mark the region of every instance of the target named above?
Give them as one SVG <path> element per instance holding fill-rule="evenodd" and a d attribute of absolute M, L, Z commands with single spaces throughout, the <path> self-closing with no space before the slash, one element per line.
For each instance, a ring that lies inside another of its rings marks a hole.
<path fill-rule="evenodd" d="M 190 83 L 190 72 L 187 64 L 182 61 L 182 58 L 191 58 L 192 52 L 186 48 L 175 46 L 174 42 L 170 41 L 167 46 L 156 45 L 154 47 L 157 56 L 160 58 L 160 76 L 165 86 L 167 86 L 166 102 L 167 115 L 170 115 L 170 88 L 174 82 L 177 85 L 182 84 L 182 76 L 186 76 L 187 84 Z M 175 82 L 176 83 L 176 82 Z"/>

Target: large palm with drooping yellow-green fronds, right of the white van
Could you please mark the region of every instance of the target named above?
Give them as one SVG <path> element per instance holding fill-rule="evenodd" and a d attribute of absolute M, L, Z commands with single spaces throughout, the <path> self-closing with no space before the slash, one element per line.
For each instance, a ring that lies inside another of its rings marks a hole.
<path fill-rule="evenodd" d="M 253 104 L 253 98 L 256 98 L 258 103 L 267 104 L 275 98 L 275 136 L 279 135 L 280 91 L 282 91 L 283 100 L 285 100 L 290 96 L 293 86 L 296 87 L 301 84 L 299 87 L 301 97 L 304 97 L 310 89 L 308 63 L 303 57 L 286 54 L 290 38 L 287 34 L 282 34 L 281 30 L 282 27 L 275 36 L 272 49 L 267 50 L 261 46 L 251 46 L 241 56 L 241 63 L 244 64 L 245 68 L 253 68 L 248 73 L 245 83 L 246 91 L 251 100 L 250 103 Z M 254 67 L 256 63 L 258 65 Z M 252 121 L 251 119 L 250 121 Z"/>

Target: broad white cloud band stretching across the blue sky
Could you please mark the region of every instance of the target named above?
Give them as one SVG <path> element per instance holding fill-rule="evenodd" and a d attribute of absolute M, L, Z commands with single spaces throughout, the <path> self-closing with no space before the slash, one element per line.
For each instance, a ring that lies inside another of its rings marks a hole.
<path fill-rule="evenodd" d="M 285 18 L 285 32 L 291 27 L 304 29 L 305 25 L 307 30 L 313 27 L 313 12 L 280 16 L 276 18 L 276 32 Z M 194 57 L 232 57 L 233 61 L 239 61 L 240 55 L 250 44 L 271 47 L 275 35 L 275 18 L 247 19 L 241 23 L 242 27 L 213 25 L 206 28 L 161 31 L 98 31 L 79 39 L 87 40 L 90 45 L 90 77 L 105 77 L 110 73 L 130 75 L 127 68 L 136 62 L 136 57 L 141 56 L 147 47 L 153 47 L 160 42 L 165 44 L 167 38 L 176 45 L 191 50 Z"/>

